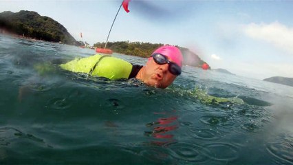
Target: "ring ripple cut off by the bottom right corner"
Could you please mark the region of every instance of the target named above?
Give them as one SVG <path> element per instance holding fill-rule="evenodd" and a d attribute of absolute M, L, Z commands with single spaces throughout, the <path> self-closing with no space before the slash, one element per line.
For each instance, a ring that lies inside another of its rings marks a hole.
<path fill-rule="evenodd" d="M 266 149 L 281 164 L 293 164 L 293 137 L 282 137 L 276 142 L 266 144 Z"/>

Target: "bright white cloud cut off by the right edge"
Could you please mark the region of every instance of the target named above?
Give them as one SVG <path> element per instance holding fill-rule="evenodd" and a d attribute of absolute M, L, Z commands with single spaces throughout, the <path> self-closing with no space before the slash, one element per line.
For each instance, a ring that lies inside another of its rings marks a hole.
<path fill-rule="evenodd" d="M 288 28 L 279 22 L 270 24 L 250 23 L 244 26 L 243 31 L 252 39 L 265 41 L 293 54 L 293 28 Z"/>

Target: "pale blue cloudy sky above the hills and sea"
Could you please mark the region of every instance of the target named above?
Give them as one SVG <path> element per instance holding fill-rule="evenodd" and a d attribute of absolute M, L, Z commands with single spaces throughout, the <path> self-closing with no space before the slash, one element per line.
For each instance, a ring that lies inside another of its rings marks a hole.
<path fill-rule="evenodd" d="M 105 42 L 122 0 L 0 0 L 0 12 L 29 10 L 61 23 L 77 41 Z M 109 41 L 186 47 L 212 69 L 262 80 L 293 78 L 293 1 L 131 0 Z M 80 32 L 83 38 L 80 38 Z"/>

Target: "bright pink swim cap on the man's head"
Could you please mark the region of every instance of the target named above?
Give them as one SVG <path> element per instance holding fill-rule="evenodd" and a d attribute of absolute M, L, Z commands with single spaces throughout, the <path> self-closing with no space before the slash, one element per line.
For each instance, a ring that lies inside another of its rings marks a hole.
<path fill-rule="evenodd" d="M 181 51 L 175 46 L 165 45 L 159 47 L 153 52 L 153 54 L 162 54 L 164 56 L 168 56 L 171 61 L 173 61 L 173 63 L 176 63 L 177 65 L 182 67 L 183 56 Z"/>

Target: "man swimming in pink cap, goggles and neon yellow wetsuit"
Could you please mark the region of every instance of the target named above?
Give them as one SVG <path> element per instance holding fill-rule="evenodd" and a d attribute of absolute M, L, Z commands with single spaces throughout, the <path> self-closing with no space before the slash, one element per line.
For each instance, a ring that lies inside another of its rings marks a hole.
<path fill-rule="evenodd" d="M 137 78 L 151 87 L 166 88 L 181 74 L 183 56 L 171 45 L 159 47 L 151 54 L 146 65 L 133 65 L 113 56 L 96 54 L 61 64 L 61 68 L 111 80 Z"/>

